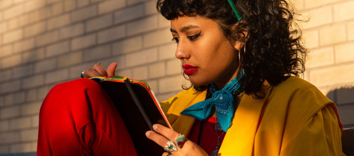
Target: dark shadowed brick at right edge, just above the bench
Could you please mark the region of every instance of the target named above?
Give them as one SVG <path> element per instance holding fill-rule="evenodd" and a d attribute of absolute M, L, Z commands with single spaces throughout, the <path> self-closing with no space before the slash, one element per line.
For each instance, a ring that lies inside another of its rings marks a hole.
<path fill-rule="evenodd" d="M 353 125 L 354 124 L 354 118 L 353 118 L 353 112 L 354 112 L 354 105 L 339 105 L 338 107 L 338 113 L 339 116 L 341 117 L 341 122 L 343 125 Z"/>

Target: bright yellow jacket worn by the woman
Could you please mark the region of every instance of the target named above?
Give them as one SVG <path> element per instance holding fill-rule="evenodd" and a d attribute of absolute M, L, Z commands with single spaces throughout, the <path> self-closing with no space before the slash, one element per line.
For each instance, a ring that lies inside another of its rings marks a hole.
<path fill-rule="evenodd" d="M 205 99 L 189 89 L 162 102 L 172 128 L 188 137 L 195 118 L 179 114 Z M 244 94 L 219 150 L 219 156 L 341 156 L 335 104 L 311 83 L 291 76 L 265 89 L 264 99 Z"/>

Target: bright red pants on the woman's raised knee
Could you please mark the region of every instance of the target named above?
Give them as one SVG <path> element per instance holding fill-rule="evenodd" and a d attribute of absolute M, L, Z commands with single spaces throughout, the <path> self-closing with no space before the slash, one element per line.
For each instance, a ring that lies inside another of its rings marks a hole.
<path fill-rule="evenodd" d="M 60 83 L 39 113 L 37 156 L 137 156 L 107 93 L 93 80 Z"/>

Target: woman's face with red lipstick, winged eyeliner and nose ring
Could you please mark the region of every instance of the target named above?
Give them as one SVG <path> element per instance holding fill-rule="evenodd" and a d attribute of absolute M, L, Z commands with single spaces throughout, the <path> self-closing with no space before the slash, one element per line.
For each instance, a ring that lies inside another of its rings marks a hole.
<path fill-rule="evenodd" d="M 178 17 L 171 20 L 171 33 L 177 42 L 176 58 L 182 60 L 184 73 L 193 85 L 215 82 L 222 89 L 236 77 L 240 43 L 231 45 L 215 21 Z"/>

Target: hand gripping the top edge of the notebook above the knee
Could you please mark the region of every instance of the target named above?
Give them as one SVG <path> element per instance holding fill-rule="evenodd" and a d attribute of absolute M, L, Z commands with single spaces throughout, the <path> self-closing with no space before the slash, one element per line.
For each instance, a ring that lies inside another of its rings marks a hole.
<path fill-rule="evenodd" d="M 92 68 L 87 68 L 85 70 L 84 77 L 85 78 L 91 78 L 91 77 L 96 77 L 96 76 L 102 76 L 102 77 L 109 77 L 109 76 L 114 76 L 115 75 L 115 69 L 117 68 L 118 63 L 113 62 L 111 63 L 107 71 L 104 69 L 101 63 L 96 63 L 93 65 Z"/>

